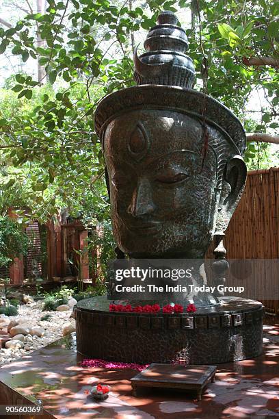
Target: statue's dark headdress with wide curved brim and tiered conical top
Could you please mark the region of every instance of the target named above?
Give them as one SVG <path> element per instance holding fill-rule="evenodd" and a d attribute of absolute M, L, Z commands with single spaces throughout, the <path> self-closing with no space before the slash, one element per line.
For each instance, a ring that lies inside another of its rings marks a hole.
<path fill-rule="evenodd" d="M 95 129 L 101 138 L 109 122 L 120 114 L 138 109 L 168 109 L 209 123 L 243 155 L 246 136 L 239 119 L 222 103 L 197 90 L 194 63 L 185 51 L 185 30 L 172 12 L 161 12 L 158 25 L 148 33 L 146 52 L 134 53 L 135 81 L 139 86 L 124 88 L 104 97 L 95 112 Z"/>

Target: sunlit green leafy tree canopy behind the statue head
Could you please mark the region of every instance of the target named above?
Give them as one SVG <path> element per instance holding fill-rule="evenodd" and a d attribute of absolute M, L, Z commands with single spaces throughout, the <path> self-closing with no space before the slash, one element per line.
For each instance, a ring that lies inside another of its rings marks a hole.
<path fill-rule="evenodd" d="M 196 88 L 232 109 L 247 133 L 276 135 L 278 1 L 47 0 L 45 10 L 41 0 L 25 2 L 16 25 L 0 20 L 0 53 L 22 64 L 0 93 L 2 213 L 26 207 L 46 220 L 68 207 L 105 217 L 94 110 L 105 94 L 135 84 L 133 49 L 160 10 L 177 12 L 186 29 Z M 36 75 L 25 66 L 32 60 Z M 250 168 L 270 164 L 268 147 L 248 143 Z"/>

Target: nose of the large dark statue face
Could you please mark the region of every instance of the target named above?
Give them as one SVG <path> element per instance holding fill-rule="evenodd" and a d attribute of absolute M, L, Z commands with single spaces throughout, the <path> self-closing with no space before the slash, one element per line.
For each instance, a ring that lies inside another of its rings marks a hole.
<path fill-rule="evenodd" d="M 152 199 L 152 189 L 147 179 L 141 179 L 133 192 L 132 202 L 128 212 L 134 217 L 150 215 L 155 211 L 155 204 Z"/>

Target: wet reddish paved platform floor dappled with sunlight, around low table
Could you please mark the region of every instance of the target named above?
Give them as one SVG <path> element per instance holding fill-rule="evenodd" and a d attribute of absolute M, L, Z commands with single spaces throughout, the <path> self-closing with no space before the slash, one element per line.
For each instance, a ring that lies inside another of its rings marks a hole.
<path fill-rule="evenodd" d="M 269 323 L 274 324 L 264 327 L 264 354 L 256 359 L 220 364 L 215 383 L 209 384 L 200 402 L 195 394 L 156 389 L 142 390 L 135 398 L 129 379 L 137 372 L 80 368 L 75 343 L 66 338 L 3 366 L 0 381 L 5 385 L 0 383 L 0 404 L 18 401 L 21 396 L 40 398 L 55 418 L 276 418 L 279 321 L 272 318 Z M 95 403 L 85 394 L 90 384 L 99 380 L 112 388 L 103 403 Z"/>

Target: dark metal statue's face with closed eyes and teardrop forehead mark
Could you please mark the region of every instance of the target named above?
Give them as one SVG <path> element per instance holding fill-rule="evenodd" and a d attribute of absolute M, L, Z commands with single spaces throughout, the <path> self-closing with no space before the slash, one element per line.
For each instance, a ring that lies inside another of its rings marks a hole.
<path fill-rule="evenodd" d="M 211 147 L 203 162 L 202 125 L 178 112 L 133 111 L 109 123 L 104 144 L 120 249 L 131 257 L 203 257 L 219 194 Z"/>

